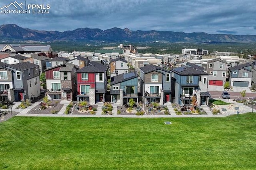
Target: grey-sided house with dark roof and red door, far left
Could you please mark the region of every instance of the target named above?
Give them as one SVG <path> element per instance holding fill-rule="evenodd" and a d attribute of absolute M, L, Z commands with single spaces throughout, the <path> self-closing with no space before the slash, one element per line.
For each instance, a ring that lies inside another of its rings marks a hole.
<path fill-rule="evenodd" d="M 9 100 L 13 101 L 13 97 L 15 101 L 19 101 L 40 96 L 41 90 L 38 65 L 24 62 L 9 64 L 4 67 L 12 70 L 14 95 L 8 94 L 8 97 L 10 97 Z M 3 72 L 0 79 L 9 80 L 8 72 Z"/>

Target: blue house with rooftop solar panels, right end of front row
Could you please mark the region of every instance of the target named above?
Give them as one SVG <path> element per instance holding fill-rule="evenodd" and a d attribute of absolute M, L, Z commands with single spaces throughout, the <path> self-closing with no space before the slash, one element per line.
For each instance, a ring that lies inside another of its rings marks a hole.
<path fill-rule="evenodd" d="M 175 92 L 174 103 L 181 106 L 190 105 L 193 96 L 197 96 L 198 105 L 208 105 L 208 73 L 193 67 L 177 67 L 171 69 L 172 91 Z"/>

